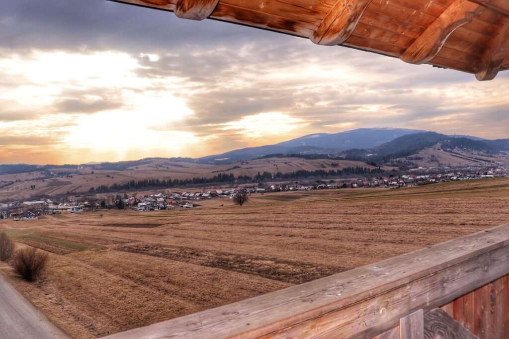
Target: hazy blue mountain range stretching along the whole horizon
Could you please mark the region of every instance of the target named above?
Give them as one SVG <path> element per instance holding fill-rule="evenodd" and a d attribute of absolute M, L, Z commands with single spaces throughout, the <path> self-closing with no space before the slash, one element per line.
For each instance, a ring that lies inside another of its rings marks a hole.
<path fill-rule="evenodd" d="M 470 135 L 445 135 L 405 128 L 359 128 L 340 133 L 309 134 L 276 145 L 248 147 L 202 158 L 167 158 L 170 162 L 193 162 L 203 164 L 231 163 L 255 159 L 271 154 L 327 154 L 340 155 L 364 161 L 386 161 L 406 157 L 419 151 L 441 145 L 444 150 L 463 149 L 495 153 L 509 151 L 509 139 L 487 140 Z M 150 164 L 155 159 L 134 161 L 89 163 L 97 170 L 125 171 L 128 168 Z M 166 158 L 164 158 L 166 160 Z M 73 169 L 77 165 L 0 165 L 0 174 L 16 174 L 35 171 L 53 171 L 59 168 Z"/>

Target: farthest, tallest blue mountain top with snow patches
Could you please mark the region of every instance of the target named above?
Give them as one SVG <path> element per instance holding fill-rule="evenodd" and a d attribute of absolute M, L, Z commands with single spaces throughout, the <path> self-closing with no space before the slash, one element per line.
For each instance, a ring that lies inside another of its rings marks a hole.
<path fill-rule="evenodd" d="M 369 149 L 390 142 L 403 135 L 422 132 L 426 131 L 391 127 L 359 128 L 334 134 L 309 134 L 277 145 L 291 147 L 312 146 L 336 151 L 354 148 Z"/>

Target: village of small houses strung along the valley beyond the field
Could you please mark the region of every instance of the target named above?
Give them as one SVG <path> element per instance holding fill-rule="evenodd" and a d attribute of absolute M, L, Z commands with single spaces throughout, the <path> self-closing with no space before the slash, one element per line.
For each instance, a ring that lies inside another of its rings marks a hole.
<path fill-rule="evenodd" d="M 377 178 L 349 178 L 336 179 L 325 182 L 316 180 L 314 182 L 296 181 L 293 183 L 274 183 L 245 185 L 244 187 L 221 187 L 220 189 L 201 189 L 192 191 L 184 189 L 167 190 L 154 194 L 146 194 L 138 197 L 134 193 L 127 192 L 106 194 L 104 196 L 83 196 L 75 195 L 71 198 L 61 198 L 59 203 L 55 199 L 43 199 L 39 201 L 8 202 L 0 204 L 0 219 L 14 218 L 15 220 L 34 220 L 38 215 L 81 213 L 98 211 L 101 209 L 131 209 L 136 211 L 156 211 L 166 209 L 187 209 L 199 205 L 200 201 L 208 199 L 233 199 L 235 194 L 246 193 L 266 194 L 273 192 L 311 191 L 321 189 L 343 189 L 343 188 L 400 188 L 407 186 L 421 186 L 434 183 L 450 181 L 473 180 L 483 178 L 507 177 L 509 169 L 497 167 L 480 170 L 479 168 L 466 168 L 459 172 L 443 174 L 405 174 L 389 175 Z"/>

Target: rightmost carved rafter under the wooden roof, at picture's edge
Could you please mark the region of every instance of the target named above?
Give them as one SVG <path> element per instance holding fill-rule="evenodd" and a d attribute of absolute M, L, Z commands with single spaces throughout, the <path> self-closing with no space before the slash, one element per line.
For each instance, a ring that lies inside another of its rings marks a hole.
<path fill-rule="evenodd" d="M 475 72 L 477 80 L 493 80 L 500 71 L 502 63 L 507 55 L 509 55 L 509 19 L 505 21 L 495 42 L 483 56 L 483 60 L 480 62 L 478 70 Z"/>

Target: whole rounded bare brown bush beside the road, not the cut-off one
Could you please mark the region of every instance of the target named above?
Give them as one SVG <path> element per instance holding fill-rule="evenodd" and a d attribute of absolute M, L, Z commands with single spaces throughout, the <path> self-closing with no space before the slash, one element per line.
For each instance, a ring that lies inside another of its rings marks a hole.
<path fill-rule="evenodd" d="M 14 253 L 14 270 L 28 281 L 36 280 L 48 262 L 48 253 L 34 247 L 24 247 Z"/>

